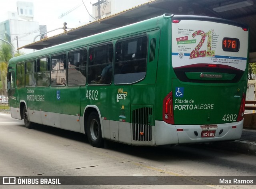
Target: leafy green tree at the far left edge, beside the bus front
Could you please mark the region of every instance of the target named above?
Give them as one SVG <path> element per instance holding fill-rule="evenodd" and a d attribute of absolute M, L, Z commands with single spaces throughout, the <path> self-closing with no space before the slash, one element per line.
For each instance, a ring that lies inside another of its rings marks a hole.
<path fill-rule="evenodd" d="M 7 67 L 8 61 L 12 58 L 12 48 L 9 44 L 3 43 L 0 45 L 0 79 L 2 81 L 2 89 L 0 89 L 1 93 L 6 94 L 6 75 L 7 75 Z"/>

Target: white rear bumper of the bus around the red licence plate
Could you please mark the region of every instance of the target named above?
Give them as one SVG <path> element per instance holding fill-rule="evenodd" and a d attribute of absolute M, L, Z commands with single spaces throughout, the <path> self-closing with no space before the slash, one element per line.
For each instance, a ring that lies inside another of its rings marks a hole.
<path fill-rule="evenodd" d="M 214 137 L 201 137 L 200 125 L 170 125 L 164 121 L 155 123 L 155 145 L 184 144 L 236 140 L 242 135 L 244 120 L 234 123 L 217 124 Z M 177 131 L 182 129 L 182 131 Z M 220 131 L 222 133 L 220 133 Z M 198 133 L 196 136 L 195 132 Z"/>

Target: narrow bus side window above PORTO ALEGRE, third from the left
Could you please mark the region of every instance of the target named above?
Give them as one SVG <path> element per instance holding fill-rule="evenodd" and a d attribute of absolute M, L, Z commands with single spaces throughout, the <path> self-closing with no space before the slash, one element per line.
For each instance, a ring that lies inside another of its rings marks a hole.
<path fill-rule="evenodd" d="M 37 59 L 37 86 L 50 85 L 50 58 Z"/>

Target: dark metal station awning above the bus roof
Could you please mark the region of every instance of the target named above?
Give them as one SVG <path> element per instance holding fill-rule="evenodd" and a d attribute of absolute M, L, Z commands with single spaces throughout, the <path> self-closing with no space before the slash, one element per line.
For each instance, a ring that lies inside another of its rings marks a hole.
<path fill-rule="evenodd" d="M 239 0 L 152 0 L 129 10 L 119 12 L 95 22 L 80 26 L 65 33 L 36 41 L 34 43 L 20 47 L 19 49 L 43 49 L 58 45 L 74 39 L 79 39 L 96 33 L 104 32 L 114 28 L 126 26 L 142 20 L 160 16 L 165 13 L 170 14 L 193 14 L 202 16 L 213 16 L 243 22 L 250 26 L 250 40 L 256 40 L 256 4 L 236 11 L 214 12 L 212 9 L 221 5 L 232 4 Z M 250 52 L 256 51 L 256 44 L 250 43 Z"/>

